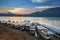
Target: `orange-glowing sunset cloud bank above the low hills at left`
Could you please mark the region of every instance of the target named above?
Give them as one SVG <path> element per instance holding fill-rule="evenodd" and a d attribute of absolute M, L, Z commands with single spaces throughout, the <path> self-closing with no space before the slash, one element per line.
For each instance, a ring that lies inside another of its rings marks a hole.
<path fill-rule="evenodd" d="M 0 9 L 0 13 L 8 13 L 11 12 L 13 14 L 31 14 L 36 10 L 31 8 L 7 8 L 7 9 Z"/>

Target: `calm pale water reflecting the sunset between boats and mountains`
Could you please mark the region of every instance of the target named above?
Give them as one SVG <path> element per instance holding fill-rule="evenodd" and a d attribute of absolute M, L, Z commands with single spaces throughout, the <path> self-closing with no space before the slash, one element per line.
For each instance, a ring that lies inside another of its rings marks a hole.
<path fill-rule="evenodd" d="M 19 23 L 24 20 L 30 20 L 31 22 L 39 22 L 60 30 L 60 17 L 0 17 L 0 20 L 18 21 Z"/>

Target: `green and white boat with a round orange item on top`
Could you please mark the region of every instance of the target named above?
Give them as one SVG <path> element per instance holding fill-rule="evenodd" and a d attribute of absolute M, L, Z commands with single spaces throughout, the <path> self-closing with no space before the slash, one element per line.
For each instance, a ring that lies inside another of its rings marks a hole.
<path fill-rule="evenodd" d="M 49 40 L 53 37 L 52 35 L 53 33 L 48 29 L 42 27 L 41 25 L 36 26 L 35 28 L 36 28 L 37 34 L 39 34 L 42 38 Z"/>

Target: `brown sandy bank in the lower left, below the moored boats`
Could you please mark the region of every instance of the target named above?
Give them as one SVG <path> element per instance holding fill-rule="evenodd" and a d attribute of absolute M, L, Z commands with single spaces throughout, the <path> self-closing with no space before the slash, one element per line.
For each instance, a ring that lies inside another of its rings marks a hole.
<path fill-rule="evenodd" d="M 0 40 L 36 40 L 34 37 L 19 31 L 15 32 L 13 29 L 0 24 Z"/>

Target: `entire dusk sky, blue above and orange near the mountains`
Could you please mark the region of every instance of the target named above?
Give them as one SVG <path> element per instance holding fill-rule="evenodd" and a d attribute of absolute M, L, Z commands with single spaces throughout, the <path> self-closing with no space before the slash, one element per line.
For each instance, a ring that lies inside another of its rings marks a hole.
<path fill-rule="evenodd" d="M 0 0 L 0 13 L 30 14 L 60 7 L 60 0 Z"/>

